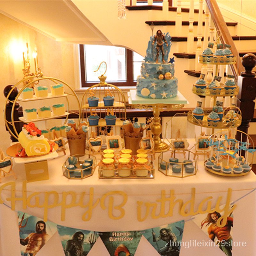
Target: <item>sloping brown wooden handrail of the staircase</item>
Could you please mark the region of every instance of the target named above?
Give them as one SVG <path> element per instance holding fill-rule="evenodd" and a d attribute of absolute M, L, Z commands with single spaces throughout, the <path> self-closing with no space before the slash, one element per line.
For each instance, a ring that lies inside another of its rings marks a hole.
<path fill-rule="evenodd" d="M 212 20 L 214 22 L 214 25 L 217 30 L 220 30 L 220 41 L 223 44 L 230 44 L 232 52 L 236 56 L 236 64 L 230 65 L 230 68 L 232 70 L 232 73 L 234 74 L 236 80 L 237 80 L 237 75 L 240 75 L 242 71 L 244 71 L 244 68 L 242 66 L 242 61 L 239 58 L 239 53 L 236 49 L 236 45 L 234 44 L 234 41 L 228 31 L 228 27 L 226 25 L 226 22 L 220 12 L 220 8 L 216 2 L 216 0 L 205 0 L 206 4 L 209 8 L 209 11 L 212 15 Z"/>

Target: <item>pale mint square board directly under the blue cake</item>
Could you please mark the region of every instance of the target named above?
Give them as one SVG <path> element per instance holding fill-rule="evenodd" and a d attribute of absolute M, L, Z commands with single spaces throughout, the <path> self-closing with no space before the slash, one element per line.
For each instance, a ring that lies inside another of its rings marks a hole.
<path fill-rule="evenodd" d="M 128 102 L 132 104 L 189 104 L 188 100 L 178 91 L 176 97 L 169 99 L 147 99 L 136 94 L 136 90 L 130 90 L 128 94 Z"/>

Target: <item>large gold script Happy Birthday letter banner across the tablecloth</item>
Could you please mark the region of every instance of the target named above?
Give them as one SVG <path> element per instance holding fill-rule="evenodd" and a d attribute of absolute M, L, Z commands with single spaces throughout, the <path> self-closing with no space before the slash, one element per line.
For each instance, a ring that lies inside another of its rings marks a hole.
<path fill-rule="evenodd" d="M 63 191 L 62 193 L 57 193 L 56 191 L 47 191 L 47 192 L 29 192 L 27 191 L 27 180 L 24 180 L 22 183 L 22 196 L 16 196 L 16 183 L 14 181 L 8 182 L 0 187 L 0 204 L 4 203 L 2 194 L 4 190 L 9 190 L 10 196 L 6 196 L 5 200 L 9 201 L 11 204 L 11 209 L 15 210 L 16 202 L 22 202 L 22 208 L 25 210 L 27 207 L 30 208 L 41 208 L 44 211 L 44 221 L 48 219 L 48 210 L 54 207 L 61 207 L 61 221 L 64 221 L 66 218 L 66 210 L 72 207 L 81 207 L 85 209 L 84 214 L 82 215 L 83 221 L 89 221 L 92 218 L 92 214 L 96 207 L 100 207 L 102 210 L 107 210 L 108 217 L 112 220 L 120 220 L 125 215 L 124 206 L 127 203 L 128 195 L 124 191 L 109 191 L 104 195 L 97 195 L 94 193 L 93 188 L 89 188 L 89 193 L 82 192 L 80 194 L 75 193 L 74 191 Z M 161 195 L 154 202 L 152 201 L 137 201 L 137 220 L 145 221 L 148 218 L 158 219 L 158 218 L 167 218 L 172 217 L 174 212 L 174 207 L 178 205 L 178 212 L 181 216 L 194 216 L 198 213 L 212 213 L 212 212 L 223 212 L 221 218 L 218 219 L 217 225 L 222 227 L 226 223 L 227 218 L 231 211 L 234 211 L 236 204 L 233 204 L 233 209 L 229 208 L 231 203 L 232 189 L 228 188 L 226 193 L 226 203 L 224 207 L 221 201 L 223 196 L 218 196 L 216 204 L 213 205 L 212 196 L 207 196 L 202 199 L 197 209 L 195 209 L 195 199 L 196 199 L 196 189 L 191 189 L 191 198 L 188 201 L 183 201 L 180 198 L 176 198 L 175 191 L 170 190 L 161 190 Z M 249 189 L 248 189 L 249 190 Z M 31 193 L 28 195 L 28 192 Z M 221 191 L 219 191 L 221 192 Z M 224 192 L 224 191 L 223 191 Z M 204 192 L 209 193 L 209 192 Z M 39 200 L 39 195 L 43 195 L 44 199 Z M 67 203 L 67 197 L 71 196 L 71 202 Z M 84 204 L 84 197 L 89 196 L 89 199 L 86 204 Z M 117 204 L 115 202 L 114 196 L 122 196 L 123 200 L 121 203 Z M 53 198 L 53 202 L 50 203 L 50 197 Z M 32 203 L 35 202 L 35 203 Z M 41 202 L 41 203 L 40 203 Z M 167 204 L 168 203 L 168 204 Z M 168 205 L 168 209 L 166 207 Z M 160 207 L 160 212 L 157 212 L 157 208 Z M 167 211 L 168 210 L 168 211 Z M 115 215 L 114 211 L 119 212 Z M 143 212 L 143 213 L 142 213 Z M 167 213 L 166 213 L 167 212 Z M 223 220 L 223 221 L 222 221 Z M 221 224 L 222 223 L 222 224 Z"/>

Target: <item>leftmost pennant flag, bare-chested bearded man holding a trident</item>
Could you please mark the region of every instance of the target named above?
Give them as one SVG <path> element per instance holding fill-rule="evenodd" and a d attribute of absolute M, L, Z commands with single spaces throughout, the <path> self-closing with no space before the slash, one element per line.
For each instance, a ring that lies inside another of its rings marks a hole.
<path fill-rule="evenodd" d="M 56 233 L 57 225 L 36 216 L 18 212 L 21 256 L 35 256 Z"/>

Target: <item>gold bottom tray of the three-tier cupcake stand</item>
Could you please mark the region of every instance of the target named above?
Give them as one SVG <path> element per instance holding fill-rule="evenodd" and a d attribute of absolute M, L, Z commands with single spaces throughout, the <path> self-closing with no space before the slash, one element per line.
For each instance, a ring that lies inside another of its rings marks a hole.
<path fill-rule="evenodd" d="M 211 110 L 212 111 L 212 110 Z M 211 112 L 210 111 L 210 112 Z M 242 116 L 238 115 L 239 118 L 236 119 L 236 120 L 233 120 L 232 122 L 228 119 L 225 119 L 225 115 L 223 116 L 222 118 L 222 121 L 221 122 L 208 122 L 207 121 L 207 116 L 210 114 L 210 112 L 204 112 L 204 117 L 203 117 L 203 120 L 199 120 L 199 119 L 196 119 L 193 114 L 192 114 L 192 111 L 189 111 L 188 112 L 188 117 L 187 117 L 187 120 L 189 123 L 191 124 L 195 124 L 197 126 L 202 126 L 202 127 L 206 127 L 206 128 L 216 128 L 216 129 L 227 129 L 227 128 L 235 128 L 235 127 L 238 127 L 241 125 L 242 123 Z"/>

